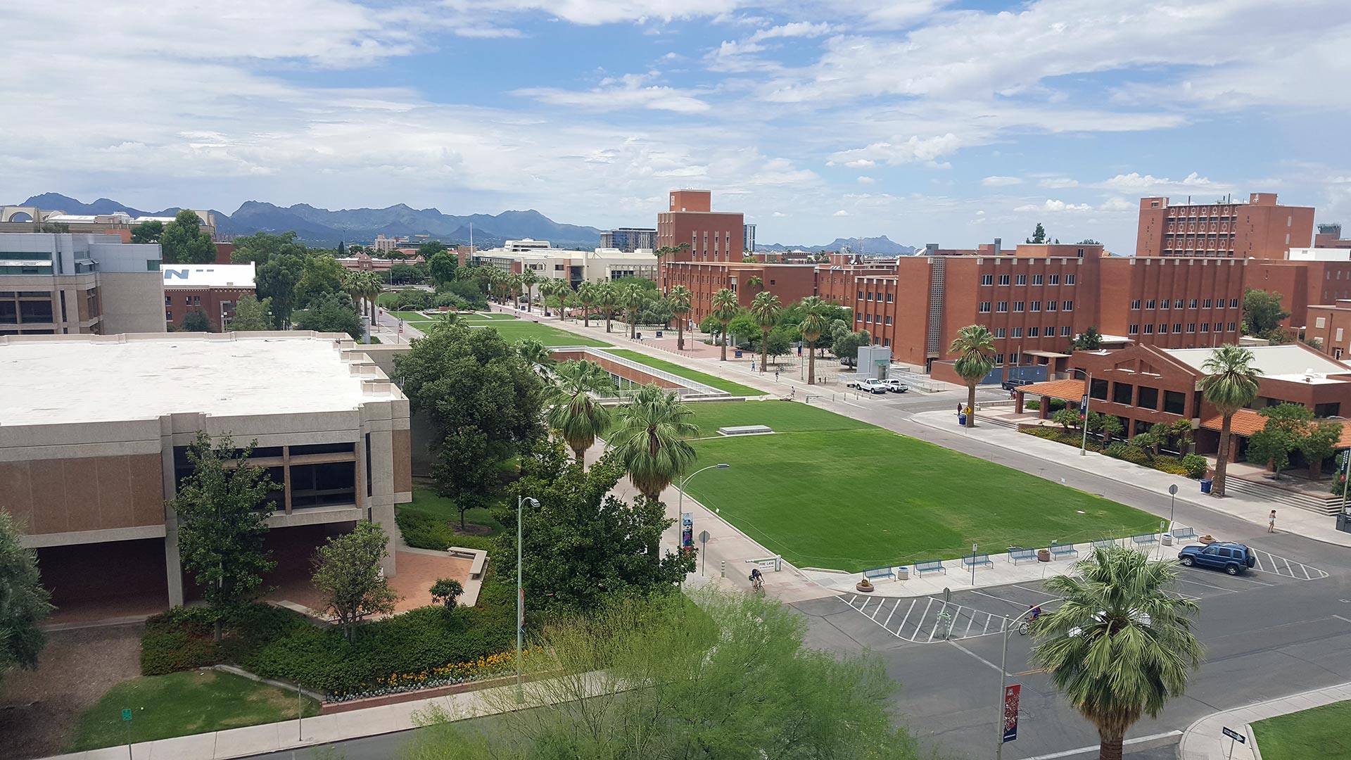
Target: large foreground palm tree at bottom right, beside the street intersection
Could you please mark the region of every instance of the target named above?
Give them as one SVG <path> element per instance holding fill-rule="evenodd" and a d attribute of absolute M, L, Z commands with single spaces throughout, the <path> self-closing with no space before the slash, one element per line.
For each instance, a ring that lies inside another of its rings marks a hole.
<path fill-rule="evenodd" d="M 1170 595 L 1174 561 L 1135 549 L 1094 549 L 1073 575 L 1046 581 L 1065 599 L 1032 625 L 1032 660 L 1098 730 L 1100 760 L 1120 760 L 1121 740 L 1143 715 L 1183 692 L 1201 664 L 1192 633 L 1196 602 Z"/>

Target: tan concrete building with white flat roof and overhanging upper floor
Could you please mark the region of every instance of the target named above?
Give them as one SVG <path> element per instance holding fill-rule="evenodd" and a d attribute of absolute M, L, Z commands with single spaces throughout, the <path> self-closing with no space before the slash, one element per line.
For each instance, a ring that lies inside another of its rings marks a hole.
<path fill-rule="evenodd" d="M 0 337 L 0 508 L 58 606 L 193 594 L 166 500 L 199 430 L 257 441 L 278 484 L 269 545 L 295 567 L 358 519 L 393 537 L 412 499 L 408 400 L 347 335 Z"/>

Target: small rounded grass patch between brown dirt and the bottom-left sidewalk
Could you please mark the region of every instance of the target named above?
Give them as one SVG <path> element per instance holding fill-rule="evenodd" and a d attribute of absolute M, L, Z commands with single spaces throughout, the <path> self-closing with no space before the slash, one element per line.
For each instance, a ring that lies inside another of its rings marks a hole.
<path fill-rule="evenodd" d="M 305 715 L 319 703 L 303 698 Z M 131 710 L 131 741 L 153 741 L 296 718 L 296 692 L 218 671 L 185 671 L 119 683 L 80 715 L 66 752 L 127 742 L 122 711 Z"/>

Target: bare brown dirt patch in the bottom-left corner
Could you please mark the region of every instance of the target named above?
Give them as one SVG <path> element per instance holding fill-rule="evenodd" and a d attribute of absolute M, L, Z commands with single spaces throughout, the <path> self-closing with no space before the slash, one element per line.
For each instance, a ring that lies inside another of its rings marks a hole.
<path fill-rule="evenodd" d="M 59 753 L 81 713 L 141 675 L 142 633 L 141 623 L 49 633 L 38 669 L 0 684 L 0 757 Z"/>

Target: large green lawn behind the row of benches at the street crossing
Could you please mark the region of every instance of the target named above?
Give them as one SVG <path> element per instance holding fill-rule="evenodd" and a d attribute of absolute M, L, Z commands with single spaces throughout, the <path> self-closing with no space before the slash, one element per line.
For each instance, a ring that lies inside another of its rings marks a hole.
<path fill-rule="evenodd" d="M 696 403 L 701 435 L 769 425 L 774 435 L 694 441 L 728 462 L 689 494 L 798 567 L 859 571 L 951 559 L 978 544 L 1084 542 L 1151 530 L 1158 518 L 924 441 L 790 402 Z"/>

